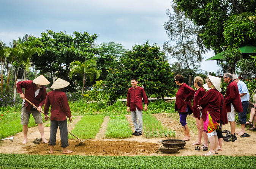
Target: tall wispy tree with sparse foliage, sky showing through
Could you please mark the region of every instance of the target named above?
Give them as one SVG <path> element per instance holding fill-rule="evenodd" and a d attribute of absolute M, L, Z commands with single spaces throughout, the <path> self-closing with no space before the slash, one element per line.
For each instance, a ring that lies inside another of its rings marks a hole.
<path fill-rule="evenodd" d="M 205 52 L 204 46 L 198 41 L 199 28 L 177 6 L 172 5 L 172 8 L 174 13 L 167 9 L 169 20 L 164 22 L 170 41 L 165 42 L 163 47 L 172 58 L 177 59 L 180 69 L 188 69 L 188 73 L 192 75 L 202 61 L 201 53 Z M 172 45 L 174 42 L 175 45 Z"/>

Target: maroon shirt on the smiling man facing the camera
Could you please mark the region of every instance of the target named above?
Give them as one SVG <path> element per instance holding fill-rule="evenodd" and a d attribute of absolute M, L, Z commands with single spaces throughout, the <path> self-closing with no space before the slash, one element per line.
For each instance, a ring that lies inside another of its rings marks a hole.
<path fill-rule="evenodd" d="M 142 97 L 144 103 L 149 103 L 147 100 L 147 95 L 143 88 L 137 86 L 137 88 L 133 89 L 132 87 L 128 89 L 127 94 L 127 106 L 130 107 L 130 111 L 143 110 L 142 108 Z"/>

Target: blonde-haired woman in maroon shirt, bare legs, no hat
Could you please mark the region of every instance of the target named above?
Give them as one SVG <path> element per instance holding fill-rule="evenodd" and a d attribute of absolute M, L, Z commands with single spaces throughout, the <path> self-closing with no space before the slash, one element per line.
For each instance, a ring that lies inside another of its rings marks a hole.
<path fill-rule="evenodd" d="M 195 142 L 194 145 L 201 145 L 202 144 L 202 135 L 204 137 L 204 145 L 201 147 L 203 149 L 204 147 L 207 147 L 208 149 L 208 138 L 207 134 L 204 132 L 204 122 L 203 122 L 203 114 L 201 110 L 198 110 L 198 101 L 205 95 L 206 91 L 202 87 L 204 80 L 200 76 L 196 76 L 194 78 L 194 87 L 197 89 L 196 93 L 194 94 L 194 102 L 193 102 L 193 114 L 196 118 L 196 127 L 198 128 L 198 141 Z M 198 150 L 199 147 L 196 147 Z M 207 150 L 204 148 L 203 150 Z"/>

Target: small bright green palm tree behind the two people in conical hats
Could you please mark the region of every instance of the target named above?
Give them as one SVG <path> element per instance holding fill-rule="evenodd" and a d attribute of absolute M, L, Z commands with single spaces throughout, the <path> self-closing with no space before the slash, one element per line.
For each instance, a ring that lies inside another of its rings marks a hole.
<path fill-rule="evenodd" d="M 96 79 L 100 77 L 100 70 L 96 67 L 96 61 L 93 59 L 89 59 L 88 61 L 72 61 L 70 63 L 70 72 L 68 77 L 72 80 L 73 75 L 80 74 L 83 76 L 83 87 L 82 94 L 84 95 L 84 86 L 85 82 L 88 79 L 89 81 L 93 81 L 94 76 L 96 75 Z"/>

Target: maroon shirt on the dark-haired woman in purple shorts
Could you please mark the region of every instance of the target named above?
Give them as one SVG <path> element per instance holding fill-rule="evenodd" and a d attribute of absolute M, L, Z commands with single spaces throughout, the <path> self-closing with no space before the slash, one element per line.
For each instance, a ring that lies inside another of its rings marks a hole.
<path fill-rule="evenodd" d="M 191 100 L 195 94 L 194 89 L 183 83 L 179 86 L 179 90 L 176 93 L 175 111 L 179 113 L 186 113 L 186 108 L 189 106 L 190 110 L 193 111 Z M 184 101 L 186 99 L 186 101 Z"/>

